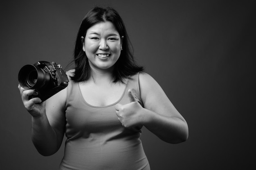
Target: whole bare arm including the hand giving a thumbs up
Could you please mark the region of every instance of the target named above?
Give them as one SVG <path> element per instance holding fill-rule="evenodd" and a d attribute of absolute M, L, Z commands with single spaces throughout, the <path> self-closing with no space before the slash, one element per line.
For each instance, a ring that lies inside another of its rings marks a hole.
<path fill-rule="evenodd" d="M 117 117 L 126 128 L 145 126 L 165 142 L 177 144 L 186 141 L 189 130 L 186 120 L 175 109 L 159 84 L 148 74 L 139 74 L 141 100 L 128 90 L 130 103 L 115 105 Z"/>

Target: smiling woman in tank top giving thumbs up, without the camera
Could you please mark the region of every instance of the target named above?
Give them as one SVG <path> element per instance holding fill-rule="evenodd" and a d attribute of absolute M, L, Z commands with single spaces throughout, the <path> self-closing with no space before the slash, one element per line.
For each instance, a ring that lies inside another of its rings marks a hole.
<path fill-rule="evenodd" d="M 75 69 L 67 88 L 45 102 L 20 85 L 32 116 L 32 141 L 52 155 L 65 133 L 60 169 L 149 170 L 142 148 L 145 126 L 168 143 L 188 137 L 184 118 L 158 83 L 135 65 L 128 35 L 112 8 L 94 7 L 81 22 L 74 51 Z"/>

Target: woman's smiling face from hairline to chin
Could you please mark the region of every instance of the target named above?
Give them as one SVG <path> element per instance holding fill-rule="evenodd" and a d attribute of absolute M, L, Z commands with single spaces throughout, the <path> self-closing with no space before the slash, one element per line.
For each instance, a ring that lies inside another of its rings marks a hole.
<path fill-rule="evenodd" d="M 99 22 L 91 26 L 83 43 L 91 68 L 112 71 L 121 53 L 121 41 L 112 22 Z"/>

